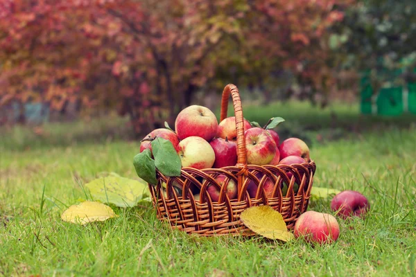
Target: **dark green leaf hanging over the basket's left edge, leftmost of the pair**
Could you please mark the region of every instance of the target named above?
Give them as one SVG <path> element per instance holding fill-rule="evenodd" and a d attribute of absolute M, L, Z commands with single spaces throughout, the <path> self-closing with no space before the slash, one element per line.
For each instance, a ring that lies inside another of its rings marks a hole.
<path fill-rule="evenodd" d="M 152 159 L 152 153 L 149 149 L 146 149 L 135 156 L 133 159 L 133 166 L 135 166 L 137 176 L 144 179 L 144 181 L 147 181 L 149 184 L 157 184 L 155 160 Z"/>

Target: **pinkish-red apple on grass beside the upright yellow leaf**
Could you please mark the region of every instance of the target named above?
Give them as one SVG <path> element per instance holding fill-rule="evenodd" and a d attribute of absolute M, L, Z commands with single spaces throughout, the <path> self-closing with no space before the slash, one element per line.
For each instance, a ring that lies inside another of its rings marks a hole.
<path fill-rule="evenodd" d="M 329 213 L 307 211 L 297 218 L 293 234 L 295 238 L 304 237 L 306 242 L 330 243 L 338 240 L 340 226 Z"/>

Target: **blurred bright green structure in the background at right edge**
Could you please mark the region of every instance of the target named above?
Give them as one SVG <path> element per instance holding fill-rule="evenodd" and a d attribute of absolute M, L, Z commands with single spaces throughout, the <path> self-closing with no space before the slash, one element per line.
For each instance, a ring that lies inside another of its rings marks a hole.
<path fill-rule="evenodd" d="M 416 114 L 416 83 L 401 86 L 395 82 L 401 76 L 401 69 L 383 69 L 379 72 L 387 85 L 374 95 L 370 82 L 370 70 L 363 72 L 361 78 L 361 113 L 383 116 L 399 116 L 404 112 Z M 416 69 L 415 69 L 416 72 Z M 406 89 L 404 89 L 406 88 Z"/>

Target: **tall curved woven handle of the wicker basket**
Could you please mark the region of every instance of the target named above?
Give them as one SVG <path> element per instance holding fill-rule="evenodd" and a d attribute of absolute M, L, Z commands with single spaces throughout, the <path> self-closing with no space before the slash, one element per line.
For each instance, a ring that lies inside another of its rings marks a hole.
<path fill-rule="evenodd" d="M 239 94 L 239 89 L 234 84 L 227 84 L 223 90 L 223 98 L 221 100 L 221 114 L 220 121 L 223 121 L 227 118 L 228 110 L 228 99 L 229 93 L 232 96 L 232 103 L 234 105 L 234 115 L 236 118 L 236 132 L 237 132 L 237 164 L 236 166 L 240 168 L 238 176 L 238 190 L 239 190 L 239 201 L 243 196 L 241 193 L 241 187 L 243 186 L 244 177 L 248 176 L 247 170 L 247 153 L 245 151 L 245 136 L 244 136 L 244 116 L 243 116 L 243 107 L 241 106 L 241 99 Z"/>

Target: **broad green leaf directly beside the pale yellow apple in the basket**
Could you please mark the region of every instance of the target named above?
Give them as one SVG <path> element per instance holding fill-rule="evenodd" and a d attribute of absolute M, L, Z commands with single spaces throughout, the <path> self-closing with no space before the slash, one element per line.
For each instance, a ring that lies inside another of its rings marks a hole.
<path fill-rule="evenodd" d="M 152 152 L 155 166 L 166 176 L 180 176 L 182 163 L 171 141 L 156 138 L 152 141 Z"/>

